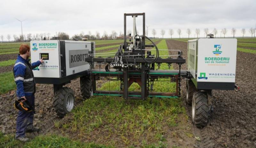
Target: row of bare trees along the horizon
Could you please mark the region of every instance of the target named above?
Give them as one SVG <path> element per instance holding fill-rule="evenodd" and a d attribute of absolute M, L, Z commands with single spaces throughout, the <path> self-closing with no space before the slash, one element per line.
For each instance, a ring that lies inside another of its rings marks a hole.
<path fill-rule="evenodd" d="M 206 37 L 207 34 L 209 33 L 212 33 L 214 34 L 214 36 L 216 37 L 216 35 L 219 33 L 219 31 L 214 28 L 212 30 L 212 32 L 210 32 L 210 30 L 208 28 L 204 28 L 204 35 Z M 232 28 L 231 30 L 231 34 L 233 35 L 233 38 L 235 38 L 235 34 L 236 34 L 236 28 Z M 195 29 L 195 34 L 196 34 L 196 37 L 198 38 L 199 35 L 200 35 L 200 29 L 199 28 L 196 28 Z M 221 29 L 220 31 L 220 37 L 221 37 L 221 34 L 224 35 L 224 38 L 226 37 L 225 35 L 227 34 L 228 30 L 227 28 L 223 28 Z M 254 37 L 255 37 L 255 32 L 256 32 L 256 27 L 253 28 L 251 27 L 248 32 L 251 34 L 251 36 L 253 37 L 253 34 L 254 34 Z M 131 30 L 127 30 L 127 38 L 129 36 L 129 34 L 132 33 Z M 156 29 L 152 29 L 152 35 L 156 36 Z M 172 38 L 172 35 L 174 34 L 174 30 L 173 29 L 169 29 L 169 35 L 171 36 Z M 179 38 L 180 38 L 180 35 L 182 34 L 182 30 L 179 28 L 177 29 L 177 33 L 179 35 Z M 188 34 L 188 38 L 190 37 L 192 31 L 190 28 L 188 28 L 186 30 L 186 33 Z M 244 38 L 244 34 L 246 33 L 246 30 L 245 28 L 242 28 L 241 29 L 241 33 L 243 34 L 243 38 Z M 139 31 L 137 31 L 137 34 L 139 34 Z M 146 33 L 145 34 L 148 34 L 147 30 L 146 30 Z M 160 31 L 160 34 L 162 36 L 162 38 L 164 38 L 164 35 L 165 35 L 165 30 L 162 29 Z M 56 36 L 57 35 L 57 36 Z M 122 31 L 119 32 L 119 34 L 113 30 L 111 31 L 110 34 L 107 33 L 107 31 L 104 31 L 103 32 L 103 35 L 101 36 L 100 35 L 100 32 L 99 31 L 96 31 L 95 34 L 92 34 L 91 31 L 88 31 L 87 34 L 85 34 L 83 31 L 80 33 L 80 34 L 75 34 L 73 35 L 71 38 L 69 37 L 68 33 L 64 33 L 64 32 L 59 32 L 58 34 L 56 33 L 56 35 L 54 36 L 51 36 L 50 33 L 36 33 L 36 34 L 31 34 L 31 33 L 28 33 L 28 34 L 23 34 L 23 35 L 15 35 L 13 34 L 13 39 L 15 42 L 21 42 L 21 41 L 31 41 L 31 40 L 56 40 L 56 39 L 59 39 L 59 40 L 75 40 L 75 41 L 82 41 L 82 37 L 83 36 L 87 36 L 89 40 L 116 40 L 116 39 L 124 39 L 124 34 L 122 33 Z M 4 35 L 0 35 L 0 38 L 2 40 L 2 42 L 4 41 L 5 37 Z M 11 40 L 11 35 L 10 34 L 7 34 L 6 35 L 6 39 L 10 42 Z"/>

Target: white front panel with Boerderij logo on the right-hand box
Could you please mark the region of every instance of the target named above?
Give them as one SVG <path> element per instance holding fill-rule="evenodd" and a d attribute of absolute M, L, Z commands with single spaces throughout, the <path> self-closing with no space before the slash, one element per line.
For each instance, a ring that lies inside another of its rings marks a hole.
<path fill-rule="evenodd" d="M 197 82 L 235 82 L 236 39 L 198 39 Z"/>

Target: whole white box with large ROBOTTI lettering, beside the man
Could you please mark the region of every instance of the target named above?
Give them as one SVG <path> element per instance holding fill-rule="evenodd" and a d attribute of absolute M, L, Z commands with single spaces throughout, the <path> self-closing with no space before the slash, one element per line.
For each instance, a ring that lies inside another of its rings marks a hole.
<path fill-rule="evenodd" d="M 33 70 L 36 83 L 60 84 L 78 78 L 90 69 L 84 59 L 95 53 L 95 42 L 43 40 L 30 41 L 31 63 L 42 57 L 44 63 Z"/>

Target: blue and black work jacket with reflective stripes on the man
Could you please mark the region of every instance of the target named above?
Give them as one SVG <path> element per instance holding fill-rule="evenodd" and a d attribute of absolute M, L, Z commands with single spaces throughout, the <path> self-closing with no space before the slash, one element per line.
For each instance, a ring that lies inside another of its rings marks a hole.
<path fill-rule="evenodd" d="M 33 69 L 41 64 L 40 61 L 30 64 L 30 59 L 25 60 L 20 55 L 18 56 L 14 67 L 14 81 L 17 85 L 17 96 L 30 96 L 36 93 L 36 83 L 34 81 Z"/>

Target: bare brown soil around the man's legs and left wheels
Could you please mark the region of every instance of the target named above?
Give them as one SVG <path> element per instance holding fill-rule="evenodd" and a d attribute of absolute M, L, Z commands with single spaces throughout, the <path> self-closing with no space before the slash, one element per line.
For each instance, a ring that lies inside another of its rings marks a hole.
<path fill-rule="evenodd" d="M 74 91 L 76 98 L 75 106 L 82 101 L 80 94 L 79 78 L 72 80 L 70 84 L 66 86 L 71 87 Z M 53 120 L 60 120 L 53 108 L 53 85 L 36 84 L 35 94 L 35 109 L 36 114 L 34 116 L 34 124 L 37 127 L 44 128 L 48 122 Z M 15 133 L 16 117 L 18 110 L 14 109 L 13 103 L 16 100 L 16 91 L 10 91 L 0 96 L 0 130 L 3 133 Z M 47 127 L 49 128 L 49 127 Z"/>

